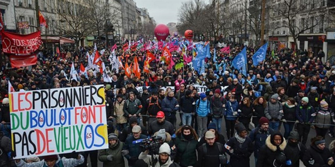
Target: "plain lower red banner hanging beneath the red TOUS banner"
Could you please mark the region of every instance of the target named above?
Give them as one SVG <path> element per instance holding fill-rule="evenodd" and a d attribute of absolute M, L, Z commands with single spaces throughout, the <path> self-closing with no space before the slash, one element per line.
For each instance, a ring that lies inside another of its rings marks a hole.
<path fill-rule="evenodd" d="M 35 65 L 37 62 L 37 55 L 36 54 L 32 54 L 29 56 L 11 55 L 9 56 L 9 60 L 13 68 L 25 67 L 29 65 Z"/>

